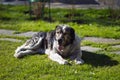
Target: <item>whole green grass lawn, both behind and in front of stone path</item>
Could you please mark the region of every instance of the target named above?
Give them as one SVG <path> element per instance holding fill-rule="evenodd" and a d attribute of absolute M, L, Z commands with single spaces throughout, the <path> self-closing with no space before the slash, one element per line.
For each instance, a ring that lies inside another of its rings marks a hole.
<path fill-rule="evenodd" d="M 96 36 L 120 38 L 120 19 L 111 18 L 108 10 L 75 10 L 75 20 L 69 20 L 68 9 L 52 9 L 52 20 L 30 20 L 24 14 L 25 6 L 0 5 L 0 29 L 11 29 L 19 32 L 48 31 L 57 24 L 69 24 L 79 36 Z M 47 9 L 45 17 L 47 17 Z M 25 41 L 26 37 L 0 35 L 0 38 L 16 38 Z M 13 57 L 15 49 L 23 42 L 0 41 L 0 80 L 119 80 L 120 55 L 109 51 L 120 50 L 109 47 L 111 44 L 83 42 L 102 48 L 96 53 L 83 52 L 85 64 L 59 65 L 46 55 L 26 56 L 22 59 Z M 120 44 L 120 43 L 116 43 Z M 114 45 L 114 44 L 112 44 Z"/>

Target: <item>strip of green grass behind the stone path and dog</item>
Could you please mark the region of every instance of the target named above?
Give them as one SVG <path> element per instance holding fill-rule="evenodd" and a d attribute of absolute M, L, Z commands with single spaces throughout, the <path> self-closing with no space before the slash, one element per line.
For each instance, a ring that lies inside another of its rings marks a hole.
<path fill-rule="evenodd" d="M 48 9 L 45 9 L 43 20 L 30 20 L 29 14 L 24 14 L 27 10 L 27 6 L 0 5 L 0 29 L 49 31 L 58 24 L 68 24 L 82 37 L 120 38 L 120 19 L 111 18 L 109 9 L 76 9 L 72 12 L 74 17 L 70 17 L 70 9 L 51 9 L 53 22 L 46 21 Z"/>

